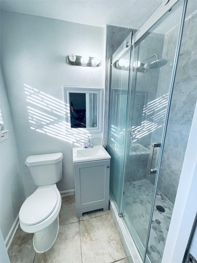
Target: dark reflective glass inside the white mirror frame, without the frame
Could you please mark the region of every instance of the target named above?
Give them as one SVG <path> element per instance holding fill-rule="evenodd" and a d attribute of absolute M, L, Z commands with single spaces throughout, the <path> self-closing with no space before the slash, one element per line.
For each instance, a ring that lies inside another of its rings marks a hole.
<path fill-rule="evenodd" d="M 96 93 L 69 92 L 69 102 L 71 128 L 97 127 Z"/>

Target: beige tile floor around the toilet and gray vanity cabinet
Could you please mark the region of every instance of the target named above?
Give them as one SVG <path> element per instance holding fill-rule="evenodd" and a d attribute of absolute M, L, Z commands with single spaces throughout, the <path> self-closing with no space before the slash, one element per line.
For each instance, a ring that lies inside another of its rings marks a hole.
<path fill-rule="evenodd" d="M 11 263 L 128 263 L 111 212 L 75 212 L 75 195 L 62 197 L 59 232 L 51 249 L 35 253 L 33 234 L 19 227 L 8 250 Z"/>

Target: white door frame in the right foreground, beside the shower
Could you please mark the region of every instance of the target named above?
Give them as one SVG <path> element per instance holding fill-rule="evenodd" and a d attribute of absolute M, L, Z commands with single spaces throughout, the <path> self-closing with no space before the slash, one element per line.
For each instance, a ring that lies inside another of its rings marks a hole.
<path fill-rule="evenodd" d="M 197 213 L 196 130 L 197 104 L 191 124 L 190 135 L 175 199 L 175 206 L 166 239 L 166 245 L 163 252 L 162 263 L 179 263 L 183 261 L 184 253 L 195 221 Z"/>

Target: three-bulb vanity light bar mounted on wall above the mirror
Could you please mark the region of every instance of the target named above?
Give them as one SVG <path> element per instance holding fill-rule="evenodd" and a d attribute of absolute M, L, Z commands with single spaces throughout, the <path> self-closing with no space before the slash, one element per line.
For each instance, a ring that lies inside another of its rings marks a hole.
<path fill-rule="evenodd" d="M 73 66 L 99 67 L 101 65 L 99 57 L 77 56 L 74 54 L 67 56 L 66 62 Z"/>

